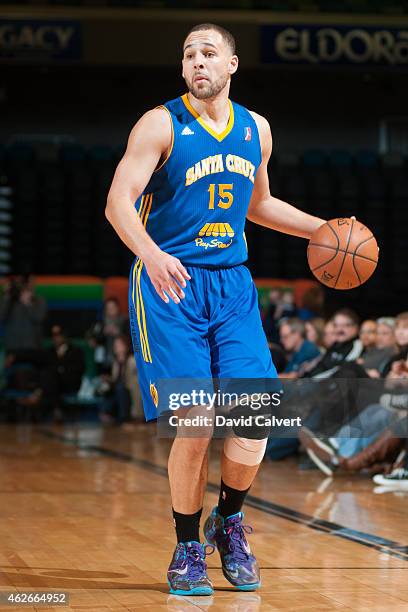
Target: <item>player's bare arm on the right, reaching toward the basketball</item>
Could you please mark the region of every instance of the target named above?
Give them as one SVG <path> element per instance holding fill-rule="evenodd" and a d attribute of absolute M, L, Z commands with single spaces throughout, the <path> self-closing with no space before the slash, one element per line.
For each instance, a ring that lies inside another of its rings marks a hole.
<path fill-rule="evenodd" d="M 264 117 L 257 113 L 251 114 L 258 126 L 262 163 L 256 173 L 247 218 L 253 223 L 269 227 L 278 232 L 309 239 L 313 232 L 325 221 L 271 195 L 268 178 L 268 161 L 272 153 L 271 130 Z"/>

